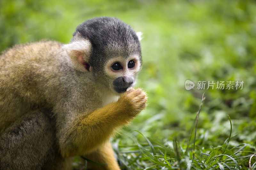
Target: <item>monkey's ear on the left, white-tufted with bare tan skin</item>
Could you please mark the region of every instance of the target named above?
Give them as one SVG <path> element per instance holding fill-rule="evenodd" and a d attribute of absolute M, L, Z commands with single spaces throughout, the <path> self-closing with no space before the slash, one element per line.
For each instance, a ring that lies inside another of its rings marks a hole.
<path fill-rule="evenodd" d="M 76 70 L 91 72 L 92 66 L 88 63 L 92 45 L 89 40 L 76 40 L 62 45 L 68 53 Z"/>

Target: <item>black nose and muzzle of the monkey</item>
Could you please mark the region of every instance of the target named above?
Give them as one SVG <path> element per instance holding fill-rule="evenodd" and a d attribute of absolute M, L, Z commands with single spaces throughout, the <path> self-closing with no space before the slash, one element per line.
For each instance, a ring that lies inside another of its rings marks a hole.
<path fill-rule="evenodd" d="M 118 93 L 125 92 L 128 87 L 131 87 L 132 84 L 133 78 L 127 76 L 118 77 L 113 82 L 114 89 Z"/>

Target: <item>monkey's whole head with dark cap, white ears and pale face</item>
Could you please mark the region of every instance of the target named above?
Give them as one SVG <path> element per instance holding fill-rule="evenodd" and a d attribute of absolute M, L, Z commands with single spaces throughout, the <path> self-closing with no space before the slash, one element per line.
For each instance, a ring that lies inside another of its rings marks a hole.
<path fill-rule="evenodd" d="M 93 18 L 77 26 L 73 39 L 63 48 L 76 70 L 121 93 L 135 84 L 141 69 L 140 36 L 120 19 Z"/>

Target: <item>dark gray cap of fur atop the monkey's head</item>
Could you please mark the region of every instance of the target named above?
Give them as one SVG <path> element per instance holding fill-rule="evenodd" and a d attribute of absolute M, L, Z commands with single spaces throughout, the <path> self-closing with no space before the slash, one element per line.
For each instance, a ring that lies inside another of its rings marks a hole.
<path fill-rule="evenodd" d="M 129 57 L 132 54 L 140 56 L 140 41 L 131 26 L 118 18 L 99 17 L 86 20 L 77 26 L 80 33 L 92 43 L 92 57 L 89 63 L 93 68 L 102 67 L 112 57 Z M 113 56 L 114 55 L 114 56 Z"/>

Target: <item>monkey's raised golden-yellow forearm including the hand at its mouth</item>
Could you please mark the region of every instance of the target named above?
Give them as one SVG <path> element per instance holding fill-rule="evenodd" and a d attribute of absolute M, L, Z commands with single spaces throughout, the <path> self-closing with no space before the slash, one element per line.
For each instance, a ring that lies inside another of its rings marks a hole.
<path fill-rule="evenodd" d="M 90 153 L 106 142 L 114 130 L 127 124 L 146 107 L 147 96 L 141 89 L 121 94 L 119 100 L 69 123 L 60 138 L 62 156 Z"/>

